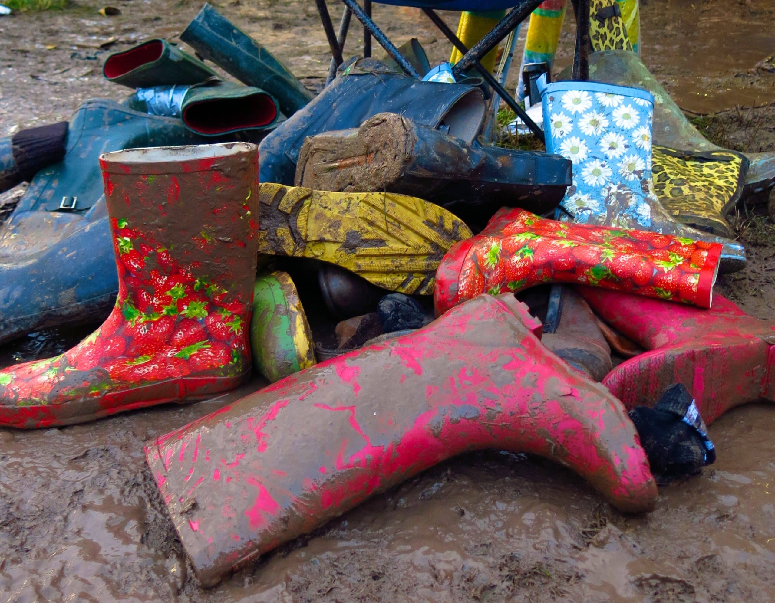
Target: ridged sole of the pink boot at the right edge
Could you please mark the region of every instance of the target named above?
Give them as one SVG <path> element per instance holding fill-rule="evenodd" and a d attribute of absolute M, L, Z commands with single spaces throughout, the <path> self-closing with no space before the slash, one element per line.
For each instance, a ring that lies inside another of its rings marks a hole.
<path fill-rule="evenodd" d="M 731 370 L 735 366 L 746 370 L 735 373 Z M 740 404 L 775 402 L 775 345 L 758 337 L 727 337 L 721 345 L 698 342 L 661 348 L 622 362 L 603 379 L 628 409 L 653 406 L 673 383 L 694 392 L 707 424 Z"/>

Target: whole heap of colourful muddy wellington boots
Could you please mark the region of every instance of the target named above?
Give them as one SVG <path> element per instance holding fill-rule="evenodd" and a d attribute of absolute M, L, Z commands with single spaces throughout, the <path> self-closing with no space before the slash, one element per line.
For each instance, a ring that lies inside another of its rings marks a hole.
<path fill-rule="evenodd" d="M 775 402 L 775 322 L 714 295 L 746 266 L 726 215 L 775 162 L 701 139 L 639 60 L 637 2 L 590 5 L 591 58 L 580 26 L 560 81 L 530 74 L 566 2 L 530 19 L 517 96 L 546 151 L 487 144 L 491 89 L 416 39 L 405 61 L 332 62 L 319 94 L 211 5 L 192 52 L 112 54 L 124 101 L 0 139 L 0 192 L 29 183 L 0 215 L 0 343 L 95 327 L 0 368 L 0 427 L 250 384 L 146 444 L 205 586 L 485 448 L 653 510 L 658 483 L 723 454 L 706 423 Z M 458 37 L 503 15 L 463 13 Z"/>

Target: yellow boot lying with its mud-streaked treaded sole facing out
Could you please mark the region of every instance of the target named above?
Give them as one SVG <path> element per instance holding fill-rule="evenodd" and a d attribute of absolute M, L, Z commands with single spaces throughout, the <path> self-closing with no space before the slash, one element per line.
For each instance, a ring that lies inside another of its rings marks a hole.
<path fill-rule="evenodd" d="M 463 221 L 428 201 L 391 193 L 260 186 L 259 252 L 319 259 L 399 293 L 429 295 Z"/>

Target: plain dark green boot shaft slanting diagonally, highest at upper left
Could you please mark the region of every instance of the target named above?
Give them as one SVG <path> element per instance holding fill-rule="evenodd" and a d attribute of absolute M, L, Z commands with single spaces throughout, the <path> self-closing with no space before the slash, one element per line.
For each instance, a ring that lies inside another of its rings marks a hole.
<path fill-rule="evenodd" d="M 284 115 L 293 115 L 312 101 L 312 92 L 291 74 L 288 67 L 208 3 L 180 37 L 227 74 L 271 94 Z"/>

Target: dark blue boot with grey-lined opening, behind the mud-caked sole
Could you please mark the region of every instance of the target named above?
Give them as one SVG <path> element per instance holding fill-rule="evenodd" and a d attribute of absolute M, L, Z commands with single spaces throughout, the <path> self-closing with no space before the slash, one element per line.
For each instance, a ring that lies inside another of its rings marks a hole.
<path fill-rule="evenodd" d="M 339 67 L 336 80 L 314 101 L 263 139 L 260 181 L 292 185 L 307 136 L 357 128 L 378 113 L 405 115 L 470 143 L 479 132 L 484 110 L 484 95 L 477 87 L 418 81 L 380 61 L 353 59 Z"/>

